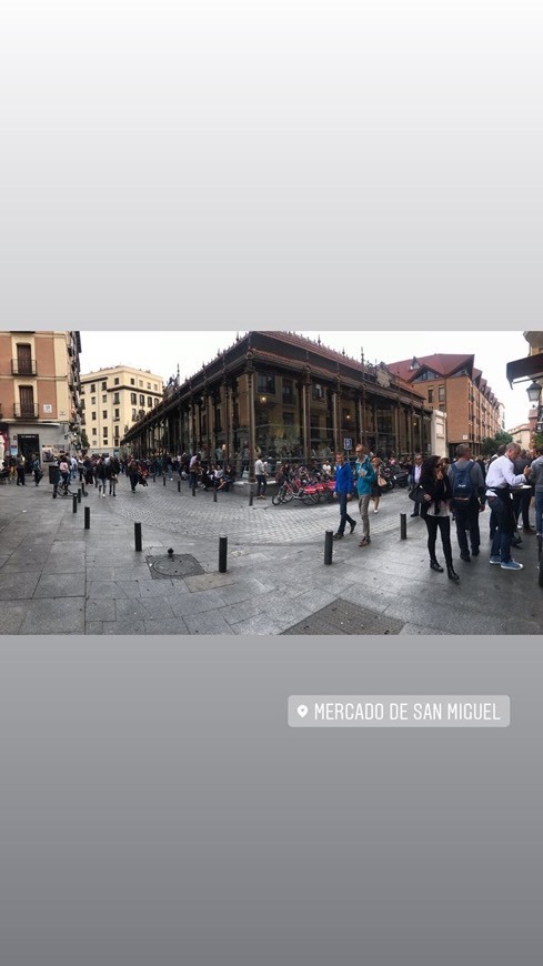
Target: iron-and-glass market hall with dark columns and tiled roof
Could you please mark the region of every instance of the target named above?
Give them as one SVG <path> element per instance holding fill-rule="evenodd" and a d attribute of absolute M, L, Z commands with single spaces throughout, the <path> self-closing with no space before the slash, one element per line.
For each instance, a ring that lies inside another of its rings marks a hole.
<path fill-rule="evenodd" d="M 201 452 L 252 467 L 257 453 L 309 462 L 362 441 L 382 456 L 426 453 L 432 409 L 421 388 L 290 332 L 249 332 L 141 415 L 135 456 Z"/>

